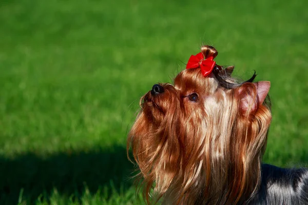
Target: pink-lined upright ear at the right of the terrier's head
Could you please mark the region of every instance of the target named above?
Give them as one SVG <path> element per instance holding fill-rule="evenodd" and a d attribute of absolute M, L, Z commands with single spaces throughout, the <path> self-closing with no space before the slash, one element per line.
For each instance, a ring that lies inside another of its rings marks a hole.
<path fill-rule="evenodd" d="M 239 108 L 242 113 L 253 113 L 263 104 L 271 82 L 259 81 L 257 83 L 245 83 L 236 89 L 236 95 L 240 98 Z"/>

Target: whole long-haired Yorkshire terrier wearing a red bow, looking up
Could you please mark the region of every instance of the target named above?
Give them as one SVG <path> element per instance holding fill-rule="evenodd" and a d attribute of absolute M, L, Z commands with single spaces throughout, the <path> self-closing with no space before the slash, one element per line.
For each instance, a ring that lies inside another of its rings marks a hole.
<path fill-rule="evenodd" d="M 232 77 L 214 47 L 191 55 L 174 85 L 140 100 L 127 150 L 143 178 L 145 202 L 308 204 L 308 170 L 262 163 L 271 104 L 269 81 Z"/>

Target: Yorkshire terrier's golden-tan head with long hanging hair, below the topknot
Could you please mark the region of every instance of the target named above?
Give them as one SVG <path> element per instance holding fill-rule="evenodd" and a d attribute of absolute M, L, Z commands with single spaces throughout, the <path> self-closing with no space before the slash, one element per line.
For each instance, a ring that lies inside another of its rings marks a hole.
<path fill-rule="evenodd" d="M 172 203 L 235 202 L 254 191 L 271 121 L 262 105 L 268 89 L 264 81 L 226 89 L 200 69 L 154 85 L 128 137 L 147 200 L 153 182 L 156 196 Z"/>

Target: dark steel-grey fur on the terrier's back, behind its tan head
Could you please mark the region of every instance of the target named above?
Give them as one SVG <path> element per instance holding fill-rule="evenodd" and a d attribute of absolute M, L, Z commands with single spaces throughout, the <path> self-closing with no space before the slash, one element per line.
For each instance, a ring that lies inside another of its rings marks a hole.
<path fill-rule="evenodd" d="M 308 170 L 262 165 L 261 186 L 249 204 L 308 205 Z"/>

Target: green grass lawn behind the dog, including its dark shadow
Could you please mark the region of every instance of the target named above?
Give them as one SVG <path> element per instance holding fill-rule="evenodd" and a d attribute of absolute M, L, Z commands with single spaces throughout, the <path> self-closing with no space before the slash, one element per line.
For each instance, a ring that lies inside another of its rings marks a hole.
<path fill-rule="evenodd" d="M 308 2 L 0 2 L 0 204 L 141 204 L 126 159 L 139 98 L 201 44 L 272 83 L 264 161 L 308 162 Z M 184 63 L 182 63 L 182 61 Z"/>

